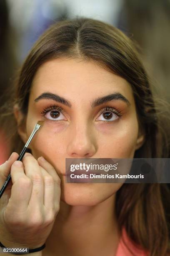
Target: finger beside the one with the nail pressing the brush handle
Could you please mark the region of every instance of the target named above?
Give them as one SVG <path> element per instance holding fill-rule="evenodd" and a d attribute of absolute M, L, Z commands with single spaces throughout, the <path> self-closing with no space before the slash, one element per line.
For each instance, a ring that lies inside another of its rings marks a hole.
<path fill-rule="evenodd" d="M 32 181 L 32 194 L 30 198 L 30 205 L 42 205 L 44 197 L 44 182 L 40 166 L 37 160 L 30 154 L 26 153 L 23 157 L 23 164 L 25 174 Z"/>

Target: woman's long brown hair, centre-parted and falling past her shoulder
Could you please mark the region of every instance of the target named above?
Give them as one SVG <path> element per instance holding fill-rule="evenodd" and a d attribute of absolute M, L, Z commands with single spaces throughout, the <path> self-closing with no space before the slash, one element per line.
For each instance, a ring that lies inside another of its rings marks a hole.
<path fill-rule="evenodd" d="M 55 23 L 40 36 L 28 54 L 13 87 L 14 94 L 10 92 L 10 101 L 1 109 L 1 122 L 8 127 L 11 151 L 20 154 L 24 146 L 17 133 L 14 104 L 18 104 L 25 115 L 22 125 L 26 120 L 30 88 L 37 69 L 47 60 L 65 57 L 91 59 L 126 79 L 133 89 L 139 127 L 145 133 L 145 142 L 135 151 L 134 157 L 169 157 L 170 129 L 165 130 L 168 123 L 163 125 L 168 122 L 168 117 L 163 109 L 159 110 L 164 102 L 154 98 L 135 44 L 117 28 L 84 17 Z M 149 251 L 150 256 L 164 256 L 170 252 L 170 226 L 167 225 L 170 220 L 165 211 L 169 200 L 166 184 L 123 184 L 116 193 L 120 232 L 125 227 L 129 238 Z"/>

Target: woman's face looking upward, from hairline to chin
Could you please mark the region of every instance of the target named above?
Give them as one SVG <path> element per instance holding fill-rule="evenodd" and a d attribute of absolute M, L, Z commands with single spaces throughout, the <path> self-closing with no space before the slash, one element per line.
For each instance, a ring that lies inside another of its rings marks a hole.
<path fill-rule="evenodd" d="M 112 96 L 103 98 L 108 95 Z M 66 183 L 63 174 L 66 158 L 133 158 L 139 127 L 133 92 L 125 79 L 93 61 L 47 61 L 33 79 L 27 138 L 38 120 L 45 122 L 30 149 L 36 159 L 44 156 L 56 169 L 62 201 L 95 205 L 121 187 L 118 183 Z"/>

